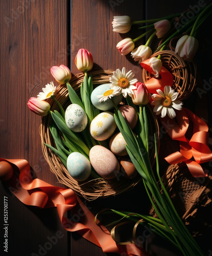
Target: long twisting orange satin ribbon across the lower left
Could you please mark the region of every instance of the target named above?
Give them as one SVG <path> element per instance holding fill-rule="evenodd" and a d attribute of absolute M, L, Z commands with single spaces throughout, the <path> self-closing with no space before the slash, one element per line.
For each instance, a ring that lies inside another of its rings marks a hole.
<path fill-rule="evenodd" d="M 143 248 L 138 248 L 135 244 L 125 246 L 116 244 L 106 227 L 95 223 L 95 216 L 72 189 L 53 186 L 40 179 L 33 179 L 27 160 L 0 158 L 1 161 L 7 161 L 14 170 L 20 172 L 19 178 L 13 173 L 13 176 L 4 182 L 22 203 L 40 208 L 57 207 L 61 224 L 66 230 L 77 231 L 83 238 L 102 247 L 104 252 L 120 254 L 125 252 L 127 253 L 125 255 L 135 256 L 149 255 Z M 64 215 L 68 210 L 80 218 L 80 222 L 65 218 Z"/>

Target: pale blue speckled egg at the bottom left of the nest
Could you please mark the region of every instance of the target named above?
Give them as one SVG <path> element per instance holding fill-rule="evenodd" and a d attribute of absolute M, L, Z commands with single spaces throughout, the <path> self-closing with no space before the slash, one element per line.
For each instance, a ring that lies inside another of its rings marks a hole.
<path fill-rule="evenodd" d="M 91 165 L 84 155 L 73 152 L 67 158 L 67 170 L 73 179 L 83 181 L 89 177 Z"/>

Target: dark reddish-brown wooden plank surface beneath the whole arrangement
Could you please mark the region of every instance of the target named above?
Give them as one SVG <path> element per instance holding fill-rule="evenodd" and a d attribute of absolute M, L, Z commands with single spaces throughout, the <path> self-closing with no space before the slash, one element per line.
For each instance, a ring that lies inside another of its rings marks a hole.
<path fill-rule="evenodd" d="M 136 74 L 138 80 L 142 80 L 142 70 L 138 63 L 133 62 L 129 56 L 121 56 L 115 49 L 123 36 L 112 32 L 113 16 L 129 15 L 133 20 L 156 18 L 184 11 L 201 5 L 202 2 L 204 0 L 2 0 L 0 157 L 26 159 L 35 177 L 52 185 L 62 186 L 50 172 L 42 154 L 39 135 L 41 118 L 31 113 L 27 106 L 28 99 L 35 97 L 46 83 L 53 80 L 50 68 L 64 64 L 73 75 L 79 73 L 74 60 L 78 50 L 85 48 L 92 54 L 95 68 L 115 70 L 126 67 Z M 210 1 L 204 3 L 208 2 Z M 203 27 L 200 34 L 208 40 L 209 46 L 204 51 L 200 48 L 197 65 L 202 79 L 209 79 L 211 32 L 210 27 L 207 27 L 208 34 L 203 33 L 207 31 L 206 26 Z M 128 33 L 132 38 L 139 34 L 137 30 Z M 139 43 L 144 44 L 145 39 Z M 207 97 L 210 102 L 208 108 L 211 110 L 209 93 Z M 199 111 L 202 108 L 198 104 L 196 106 L 197 113 L 203 118 L 207 117 L 207 110 Z M 211 123 L 209 125 L 211 131 Z M 56 208 L 26 206 L 2 182 L 0 193 L 0 255 L 116 255 L 106 254 L 77 233 L 64 230 Z M 92 201 L 88 205 L 93 212 L 104 207 L 145 212 L 147 201 L 143 201 L 143 194 L 144 188 L 138 185 L 121 196 Z M 4 197 L 8 198 L 9 207 L 9 250 L 5 254 L 2 242 Z M 48 250 L 40 250 L 57 232 L 60 233 L 57 243 Z M 206 234 L 206 238 L 208 237 L 212 237 L 211 232 Z M 199 240 L 205 255 L 212 255 L 211 243 L 204 241 L 205 239 Z M 166 241 L 154 235 L 147 238 L 143 246 L 151 255 L 180 255 Z"/>

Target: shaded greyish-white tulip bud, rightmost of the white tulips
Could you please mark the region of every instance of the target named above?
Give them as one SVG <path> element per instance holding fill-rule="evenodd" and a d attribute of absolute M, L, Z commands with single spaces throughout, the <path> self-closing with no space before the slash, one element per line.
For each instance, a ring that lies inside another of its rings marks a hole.
<path fill-rule="evenodd" d="M 178 41 L 175 53 L 187 61 L 192 61 L 197 49 L 198 40 L 194 36 L 183 35 Z"/>

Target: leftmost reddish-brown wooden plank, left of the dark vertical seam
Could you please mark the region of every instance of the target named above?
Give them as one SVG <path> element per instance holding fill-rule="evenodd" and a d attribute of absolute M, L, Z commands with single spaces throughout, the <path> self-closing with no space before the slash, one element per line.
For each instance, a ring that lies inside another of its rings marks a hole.
<path fill-rule="evenodd" d="M 31 113 L 27 102 L 52 81 L 50 68 L 67 63 L 66 1 L 1 1 L 1 108 L 0 156 L 27 159 L 33 176 L 57 184 L 42 151 L 39 136 L 41 118 Z M 23 205 L 1 185 L 9 205 L 9 251 L 5 255 L 67 255 L 67 232 L 61 227 L 57 209 L 37 209 Z M 55 245 L 48 237 L 61 232 Z M 1 243 L 3 226 L 1 225 Z M 46 246 L 42 250 L 42 246 Z M 3 246 L 1 244 L 3 255 Z M 40 250 L 40 252 L 39 252 Z"/>

